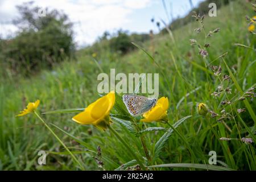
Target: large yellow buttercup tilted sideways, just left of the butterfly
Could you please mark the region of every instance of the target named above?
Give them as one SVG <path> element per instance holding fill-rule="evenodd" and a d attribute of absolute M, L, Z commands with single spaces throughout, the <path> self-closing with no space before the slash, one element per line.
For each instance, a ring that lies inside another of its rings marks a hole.
<path fill-rule="evenodd" d="M 106 129 L 110 123 L 109 113 L 115 103 L 114 91 L 90 104 L 84 111 L 75 115 L 72 120 L 81 125 L 94 125 Z"/>

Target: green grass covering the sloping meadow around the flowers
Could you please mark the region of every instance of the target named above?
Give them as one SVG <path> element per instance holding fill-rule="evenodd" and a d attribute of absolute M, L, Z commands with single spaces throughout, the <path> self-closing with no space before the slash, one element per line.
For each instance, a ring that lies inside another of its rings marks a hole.
<path fill-rule="evenodd" d="M 245 15 L 253 15 L 253 10 L 245 1 L 233 2 L 218 10 L 216 18 L 205 18 L 208 32 L 220 27 L 221 30 L 208 39 L 211 44 L 209 57 L 203 59 L 198 49 L 191 47 L 189 39 L 204 43 L 204 34 L 193 31 L 198 22 L 187 24 L 170 35 L 156 35 L 154 42 L 141 46 L 125 56 L 108 51 L 97 52 L 93 57 L 79 51 L 75 61 L 65 61 L 56 65 L 53 71 L 42 71 L 31 78 L 14 76 L 10 71 L 1 70 L 0 85 L 0 170 L 76 170 L 81 169 L 61 144 L 49 133 L 34 115 L 17 118 L 16 114 L 29 101 L 41 101 L 38 113 L 58 109 L 83 108 L 100 96 L 97 93 L 97 75 L 101 70 L 110 73 L 110 68 L 123 73 L 159 73 L 160 96 L 169 98 L 168 117 L 170 125 L 152 122 L 137 123 L 139 135 L 131 124 L 132 119 L 113 119 L 112 127 L 124 142 L 129 143 L 140 160 L 146 158 L 141 138 L 152 160 L 145 164 L 155 170 L 180 169 L 238 169 L 255 170 L 255 143 L 245 144 L 240 140 L 221 141 L 219 138 L 255 138 L 256 102 L 236 101 L 231 105 L 221 105 L 221 101 L 239 98 L 256 84 L 256 56 L 253 49 L 234 46 L 235 43 L 254 47 L 255 35 L 247 31 Z M 131 46 L 134 46 L 131 44 Z M 156 52 L 150 47 L 154 46 Z M 223 53 L 223 59 L 217 59 Z M 153 60 L 152 60 L 153 59 Z M 205 63 L 221 65 L 222 72 L 232 80 L 224 86 L 232 89 L 232 94 L 221 94 L 214 98 L 220 80 L 213 75 Z M 225 64 L 226 63 L 226 64 Z M 196 104 L 204 102 L 210 110 L 220 114 L 222 109 L 230 112 L 230 120 L 217 122 L 216 118 L 202 117 L 196 113 Z M 246 112 L 235 117 L 238 108 Z M 105 169 L 125 169 L 134 166 L 133 155 L 126 150 L 118 138 L 109 130 L 102 132 L 93 126 L 77 125 L 71 120 L 76 113 L 41 115 L 55 134 L 73 152 L 86 170 L 97 170 L 97 146 L 101 147 Z M 114 111 L 114 114 L 121 114 Z M 192 115 L 192 117 L 188 117 Z M 184 121 L 182 118 L 186 118 Z M 123 118 L 124 119 L 124 118 Z M 183 121 L 180 125 L 177 122 Z M 177 125 L 179 125 L 177 127 Z M 165 128 L 160 129 L 160 128 Z M 158 130 L 158 131 L 155 131 Z M 255 142 L 255 140 L 254 140 Z M 48 153 L 47 165 L 39 166 L 38 151 Z M 209 151 L 217 152 L 217 165 L 208 164 Z M 125 164 L 120 167 L 121 164 Z M 163 165 L 164 164 L 164 165 Z M 201 164 L 201 165 L 199 165 Z M 222 168 L 227 167 L 227 168 Z"/>

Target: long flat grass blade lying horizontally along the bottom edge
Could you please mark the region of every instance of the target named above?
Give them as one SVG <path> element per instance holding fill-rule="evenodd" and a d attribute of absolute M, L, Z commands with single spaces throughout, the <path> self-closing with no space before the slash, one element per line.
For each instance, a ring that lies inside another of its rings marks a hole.
<path fill-rule="evenodd" d="M 159 164 L 154 166 L 148 166 L 149 168 L 153 167 L 171 167 L 171 168 L 196 168 L 196 169 L 206 169 L 212 171 L 236 171 L 235 169 L 222 167 L 222 166 L 214 166 L 209 164 L 192 164 L 192 163 L 175 163 L 175 164 Z"/>

